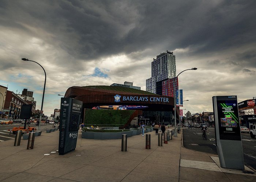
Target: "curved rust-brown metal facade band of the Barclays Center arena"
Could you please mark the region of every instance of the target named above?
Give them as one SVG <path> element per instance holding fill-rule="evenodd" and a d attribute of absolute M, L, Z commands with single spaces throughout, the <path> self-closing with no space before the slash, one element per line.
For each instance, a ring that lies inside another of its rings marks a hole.
<path fill-rule="evenodd" d="M 148 106 L 148 108 L 143 110 L 173 111 L 174 99 L 169 96 L 152 94 L 136 89 L 132 90 L 132 88 L 128 90 L 120 90 L 120 87 L 118 86 L 102 86 L 103 88 L 108 89 L 102 89 L 100 87 L 101 86 L 69 87 L 65 93 L 65 97 L 81 100 L 83 102 L 83 108 L 105 105 L 142 105 Z M 123 100 L 120 99 L 120 102 L 115 102 L 114 96 L 116 95 L 120 95 Z M 124 100 L 124 98 L 127 97 L 131 98 L 131 100 Z M 147 99 L 138 99 L 140 97 Z M 133 101 L 133 99 L 135 101 Z"/>

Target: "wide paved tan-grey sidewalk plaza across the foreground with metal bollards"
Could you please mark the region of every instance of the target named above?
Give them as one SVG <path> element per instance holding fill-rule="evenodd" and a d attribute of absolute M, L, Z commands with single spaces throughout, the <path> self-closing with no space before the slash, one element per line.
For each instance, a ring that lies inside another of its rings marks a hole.
<path fill-rule="evenodd" d="M 145 149 L 151 134 L 151 149 Z M 256 173 L 219 167 L 218 156 L 182 147 L 182 134 L 158 146 L 155 131 L 127 138 L 127 152 L 121 139 L 82 138 L 79 130 L 76 150 L 58 154 L 59 131 L 35 137 L 34 149 L 27 140 L 0 142 L 0 181 L 254 181 Z M 47 154 L 47 155 L 45 155 Z M 249 174 L 251 173 L 251 174 Z"/>

